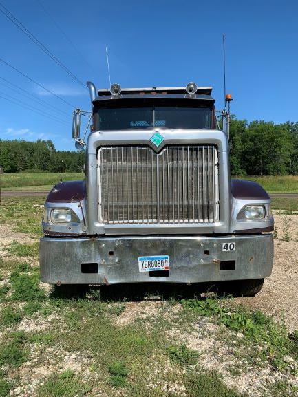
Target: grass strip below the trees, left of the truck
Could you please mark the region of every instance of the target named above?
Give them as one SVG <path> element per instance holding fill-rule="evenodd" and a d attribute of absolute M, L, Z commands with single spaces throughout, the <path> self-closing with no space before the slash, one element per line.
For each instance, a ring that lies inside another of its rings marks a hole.
<path fill-rule="evenodd" d="M 20 173 L 4 173 L 2 175 L 3 188 L 23 188 L 28 186 L 52 186 L 67 180 L 82 180 L 83 173 L 39 173 L 39 172 L 20 172 Z M 25 190 L 26 190 L 25 189 Z"/>

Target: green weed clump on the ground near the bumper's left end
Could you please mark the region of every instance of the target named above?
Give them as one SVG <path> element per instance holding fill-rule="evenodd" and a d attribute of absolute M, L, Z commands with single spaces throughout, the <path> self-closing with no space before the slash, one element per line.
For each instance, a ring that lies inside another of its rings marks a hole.
<path fill-rule="evenodd" d="M 10 275 L 12 284 L 12 300 L 14 301 L 40 301 L 45 294 L 39 288 L 39 273 L 35 271 L 32 275 L 12 272 Z"/>

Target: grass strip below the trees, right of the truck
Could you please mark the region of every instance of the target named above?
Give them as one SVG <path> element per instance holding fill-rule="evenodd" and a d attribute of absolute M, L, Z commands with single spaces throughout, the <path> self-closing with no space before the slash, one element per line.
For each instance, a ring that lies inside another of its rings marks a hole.
<path fill-rule="evenodd" d="M 239 178 L 259 183 L 268 193 L 298 193 L 298 175 L 244 176 Z"/>

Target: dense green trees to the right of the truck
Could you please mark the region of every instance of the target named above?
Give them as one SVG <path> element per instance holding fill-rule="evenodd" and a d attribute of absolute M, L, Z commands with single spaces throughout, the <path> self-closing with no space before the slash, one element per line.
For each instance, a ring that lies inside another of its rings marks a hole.
<path fill-rule="evenodd" d="M 298 122 L 232 118 L 230 164 L 232 175 L 298 175 Z"/>

